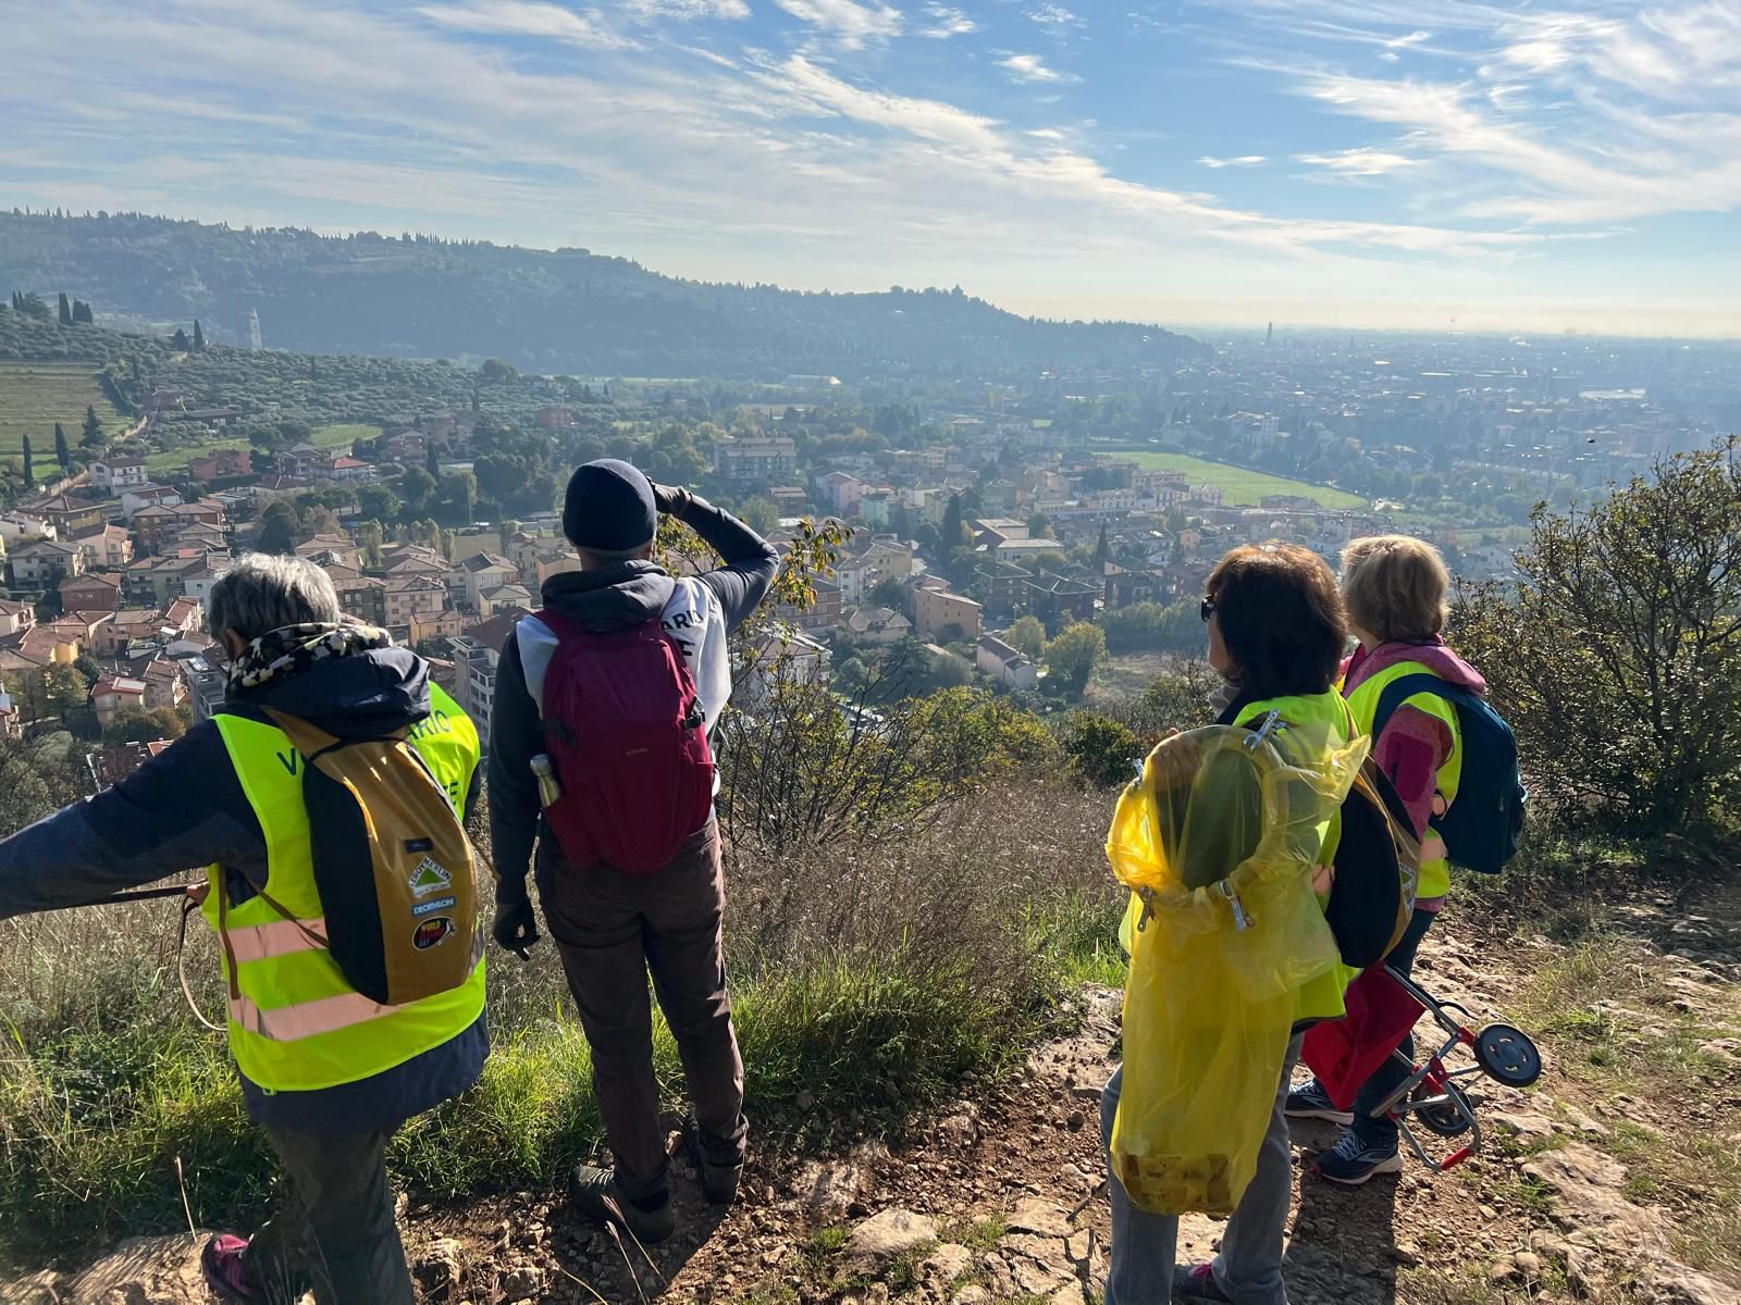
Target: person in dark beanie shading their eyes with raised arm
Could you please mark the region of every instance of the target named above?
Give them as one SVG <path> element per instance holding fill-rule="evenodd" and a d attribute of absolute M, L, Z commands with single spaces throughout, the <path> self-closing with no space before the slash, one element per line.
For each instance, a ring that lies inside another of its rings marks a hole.
<path fill-rule="evenodd" d="M 723 559 L 674 578 L 651 560 L 660 515 L 693 529 Z M 580 571 L 543 583 L 543 611 L 508 635 L 489 720 L 489 820 L 496 868 L 496 941 L 521 955 L 538 941 L 526 875 L 536 842 L 538 896 L 562 955 L 613 1168 L 576 1166 L 575 1204 L 625 1223 L 642 1242 L 676 1228 L 665 1129 L 653 1075 L 648 973 L 682 1054 L 693 1114 L 686 1140 L 710 1201 L 736 1195 L 749 1126 L 743 1060 L 731 1027 L 721 920 L 724 873 L 719 830 L 705 823 L 662 870 L 630 873 L 606 861 L 573 865 L 541 816 L 534 759 L 547 764 L 545 673 L 562 626 L 613 632 L 658 618 L 682 649 L 712 734 L 731 698 L 728 637 L 756 611 L 780 555 L 756 531 L 688 489 L 653 484 L 635 466 L 601 459 L 568 482 L 562 532 Z M 581 635 L 583 637 L 583 635 Z M 566 727 L 566 726 L 564 726 Z M 716 781 L 717 788 L 717 781 Z M 705 802 L 705 795 L 703 795 Z"/>

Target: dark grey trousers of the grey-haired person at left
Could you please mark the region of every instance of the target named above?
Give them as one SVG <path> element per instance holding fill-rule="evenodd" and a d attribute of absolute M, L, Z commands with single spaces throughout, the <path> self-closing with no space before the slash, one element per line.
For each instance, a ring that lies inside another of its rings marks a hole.
<path fill-rule="evenodd" d="M 266 1298 L 319 1305 L 414 1305 L 387 1183 L 392 1133 L 266 1129 L 284 1166 L 273 1218 L 247 1244 L 247 1275 Z"/>

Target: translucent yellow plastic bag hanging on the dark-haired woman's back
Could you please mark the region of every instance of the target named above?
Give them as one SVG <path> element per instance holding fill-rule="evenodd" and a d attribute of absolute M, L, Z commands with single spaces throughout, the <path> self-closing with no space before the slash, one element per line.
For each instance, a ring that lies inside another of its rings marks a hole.
<path fill-rule="evenodd" d="M 1295 994 L 1337 962 L 1313 861 L 1367 741 L 1177 734 L 1119 799 L 1107 860 L 1126 914 L 1125 1079 L 1112 1168 L 1156 1215 L 1231 1215 L 1269 1128 Z"/>

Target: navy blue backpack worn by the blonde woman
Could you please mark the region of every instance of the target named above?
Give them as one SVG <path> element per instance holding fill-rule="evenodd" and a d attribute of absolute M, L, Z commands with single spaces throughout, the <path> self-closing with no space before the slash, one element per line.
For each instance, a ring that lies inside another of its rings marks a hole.
<path fill-rule="evenodd" d="M 1457 800 L 1431 826 L 1445 840 L 1454 865 L 1497 875 L 1516 856 L 1523 835 L 1529 793 L 1518 773 L 1518 741 L 1506 719 L 1480 694 L 1447 684 L 1438 675 L 1400 675 L 1384 686 L 1372 717 L 1377 738 L 1391 715 L 1417 693 L 1431 693 L 1457 708 L 1462 734 L 1462 778 Z"/>

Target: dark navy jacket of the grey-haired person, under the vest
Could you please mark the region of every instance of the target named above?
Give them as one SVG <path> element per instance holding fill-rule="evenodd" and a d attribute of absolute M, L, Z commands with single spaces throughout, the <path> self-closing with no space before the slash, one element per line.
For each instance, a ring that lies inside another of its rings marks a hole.
<path fill-rule="evenodd" d="M 299 675 L 232 691 L 223 710 L 305 717 L 338 738 L 397 729 L 430 713 L 428 663 L 402 647 L 319 661 Z M 467 811 L 475 811 L 482 766 Z M 195 726 L 132 776 L 0 842 L 0 919 L 97 901 L 195 867 L 223 865 L 232 900 L 266 882 L 266 842 L 212 722 Z M 390 1131 L 474 1086 L 489 1054 L 484 1016 L 439 1047 L 373 1079 L 313 1093 L 266 1093 L 242 1077 L 249 1114 L 310 1133 Z"/>

